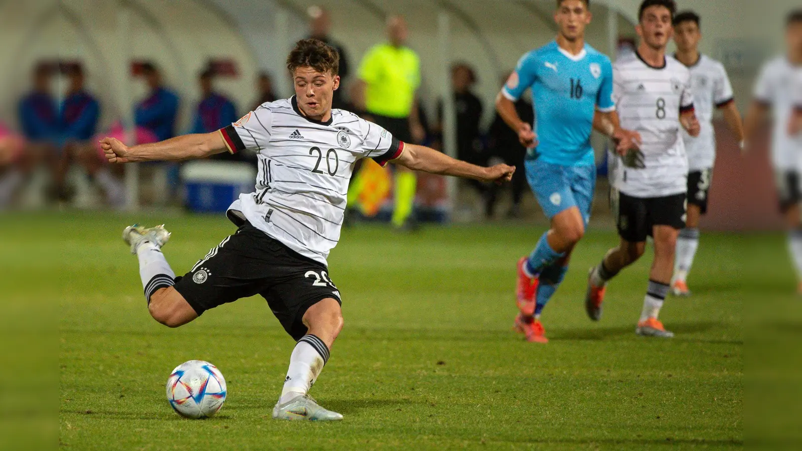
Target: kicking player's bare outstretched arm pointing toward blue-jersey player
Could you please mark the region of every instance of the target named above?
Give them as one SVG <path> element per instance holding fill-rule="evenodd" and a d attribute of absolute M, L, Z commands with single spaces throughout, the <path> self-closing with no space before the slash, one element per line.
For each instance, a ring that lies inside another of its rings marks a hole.
<path fill-rule="evenodd" d="M 515 173 L 514 166 L 495 165 L 484 168 L 462 160 L 455 160 L 433 148 L 407 143 L 404 143 L 401 155 L 392 162 L 424 173 L 472 178 L 478 181 L 495 181 L 496 183 L 512 180 L 512 173 Z"/>

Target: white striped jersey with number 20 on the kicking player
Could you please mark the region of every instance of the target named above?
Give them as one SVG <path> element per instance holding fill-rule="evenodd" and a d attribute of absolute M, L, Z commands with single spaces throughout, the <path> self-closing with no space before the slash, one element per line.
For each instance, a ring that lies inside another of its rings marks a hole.
<path fill-rule="evenodd" d="M 295 97 L 261 104 L 221 134 L 231 152 L 249 148 L 259 159 L 256 192 L 241 194 L 229 215 L 324 265 L 340 239 L 354 163 L 370 157 L 385 165 L 404 145 L 351 112 L 308 119 Z"/>

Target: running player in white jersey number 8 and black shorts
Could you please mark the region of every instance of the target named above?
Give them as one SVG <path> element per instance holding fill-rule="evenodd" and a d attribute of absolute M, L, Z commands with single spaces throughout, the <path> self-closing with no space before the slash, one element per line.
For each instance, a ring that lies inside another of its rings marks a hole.
<path fill-rule="evenodd" d="M 622 127 L 640 132 L 638 152 L 617 160 L 613 205 L 621 242 L 593 268 L 585 296 L 590 319 L 602 316 L 605 286 L 626 266 L 636 262 L 654 238 L 654 262 L 643 301 L 638 335 L 670 338 L 658 320 L 669 291 L 679 230 L 685 227 L 688 160 L 680 126 L 699 136 L 699 120 L 691 95 L 691 72 L 666 57 L 673 31 L 674 0 L 642 2 L 636 27 L 641 38 L 633 55 L 614 64 L 614 98 Z"/>

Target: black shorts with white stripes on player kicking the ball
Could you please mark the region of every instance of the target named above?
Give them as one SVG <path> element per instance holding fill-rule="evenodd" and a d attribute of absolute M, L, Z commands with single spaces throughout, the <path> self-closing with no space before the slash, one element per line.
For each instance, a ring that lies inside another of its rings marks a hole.
<path fill-rule="evenodd" d="M 261 295 L 296 340 L 306 334 L 302 319 L 309 307 L 326 298 L 342 303 L 325 265 L 290 250 L 249 222 L 176 278 L 176 291 L 199 316 L 225 303 Z"/>

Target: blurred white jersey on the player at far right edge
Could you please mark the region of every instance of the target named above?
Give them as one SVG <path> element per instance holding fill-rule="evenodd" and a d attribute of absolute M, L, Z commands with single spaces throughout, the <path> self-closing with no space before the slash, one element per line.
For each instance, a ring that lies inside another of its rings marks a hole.
<path fill-rule="evenodd" d="M 788 135 L 794 72 L 799 70 L 800 67 L 792 66 L 786 57 L 780 56 L 764 64 L 755 83 L 755 100 L 772 107 L 772 163 L 778 171 L 799 170 L 802 139 Z"/>

